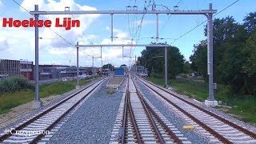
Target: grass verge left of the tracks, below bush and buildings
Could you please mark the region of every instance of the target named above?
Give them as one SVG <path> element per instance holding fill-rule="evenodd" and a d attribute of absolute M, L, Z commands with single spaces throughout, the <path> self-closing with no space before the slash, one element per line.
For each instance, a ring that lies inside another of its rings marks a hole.
<path fill-rule="evenodd" d="M 80 80 L 80 85 L 86 85 L 91 79 Z M 64 94 L 70 90 L 73 90 L 76 86 L 76 81 L 70 82 L 53 82 L 39 86 L 40 98 L 46 98 L 51 95 Z M 11 108 L 19 106 L 26 102 L 31 102 L 34 99 L 34 90 L 19 90 L 14 93 L 0 94 L 0 114 L 6 114 Z"/>

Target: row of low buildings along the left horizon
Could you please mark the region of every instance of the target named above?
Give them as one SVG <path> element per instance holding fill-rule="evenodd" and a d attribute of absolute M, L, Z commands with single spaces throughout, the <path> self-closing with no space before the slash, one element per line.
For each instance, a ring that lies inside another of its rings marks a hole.
<path fill-rule="evenodd" d="M 7 77 L 22 75 L 28 80 L 34 80 L 33 62 L 24 60 L 0 59 L 0 80 Z M 62 65 L 39 65 L 39 79 L 75 77 L 77 75 L 76 66 Z M 94 71 L 99 73 L 99 68 L 94 67 Z M 92 74 L 91 67 L 79 67 L 79 75 Z"/>

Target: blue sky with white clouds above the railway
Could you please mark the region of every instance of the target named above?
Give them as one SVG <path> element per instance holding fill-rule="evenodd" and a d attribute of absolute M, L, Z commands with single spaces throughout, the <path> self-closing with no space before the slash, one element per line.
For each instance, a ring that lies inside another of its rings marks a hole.
<path fill-rule="evenodd" d="M 209 3 L 213 9 L 225 9 L 237 0 L 146 0 L 146 5 L 156 5 L 155 10 L 207 10 Z M 17 3 L 20 6 L 18 6 Z M 27 11 L 34 10 L 38 4 L 40 10 L 63 11 L 66 6 L 72 10 L 126 10 L 126 6 L 137 6 L 143 10 L 145 0 L 0 0 L 0 59 L 23 59 L 34 62 L 34 28 L 33 27 L 3 27 L 3 18 L 14 20 L 28 20 L 33 18 Z M 26 9 L 26 10 L 24 10 Z M 152 10 L 152 6 L 148 6 Z M 240 0 L 228 7 L 214 18 L 233 16 L 242 23 L 242 19 L 250 12 L 256 11 L 255 0 Z M 156 15 L 155 14 L 114 14 L 114 42 L 110 36 L 110 14 L 83 14 L 83 15 L 40 15 L 39 19 L 51 20 L 55 18 L 72 18 L 79 20 L 80 26 L 65 30 L 63 27 L 39 28 L 39 64 L 76 65 L 76 48 L 79 44 L 150 44 L 156 42 Z M 143 19 L 142 19 L 143 17 Z M 193 54 L 194 44 L 206 39 L 204 15 L 167 15 L 159 14 L 159 39 L 158 42 L 167 42 L 177 46 L 186 60 Z M 192 30 L 195 26 L 196 29 Z M 188 31 L 190 33 L 186 34 Z M 183 34 L 182 38 L 180 38 Z M 134 57 L 141 55 L 145 47 L 99 47 L 79 48 L 79 66 L 101 66 L 112 63 L 114 66 L 130 65 Z M 125 56 L 125 58 L 122 57 Z M 156 55 L 157 56 L 157 55 Z M 127 58 L 131 57 L 131 58 Z"/>

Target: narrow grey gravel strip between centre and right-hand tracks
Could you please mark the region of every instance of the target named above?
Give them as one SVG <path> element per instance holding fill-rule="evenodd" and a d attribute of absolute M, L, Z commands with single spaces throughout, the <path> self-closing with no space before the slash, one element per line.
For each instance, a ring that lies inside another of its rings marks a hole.
<path fill-rule="evenodd" d="M 183 130 L 182 126 L 186 125 L 182 118 L 177 117 L 170 109 L 162 103 L 161 100 L 155 97 L 155 95 L 141 82 L 135 80 L 138 89 L 161 113 L 164 115 L 174 126 L 184 134 L 184 137 L 188 138 L 192 143 L 209 143 L 206 139 L 199 136 L 194 130 Z"/>

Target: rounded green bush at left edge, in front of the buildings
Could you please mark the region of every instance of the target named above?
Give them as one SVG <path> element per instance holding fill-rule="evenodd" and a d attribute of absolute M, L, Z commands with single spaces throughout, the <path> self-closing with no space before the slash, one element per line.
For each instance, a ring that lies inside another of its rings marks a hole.
<path fill-rule="evenodd" d="M 14 76 L 0 81 L 0 92 L 15 92 L 23 89 L 34 89 L 34 86 L 22 76 Z"/>

